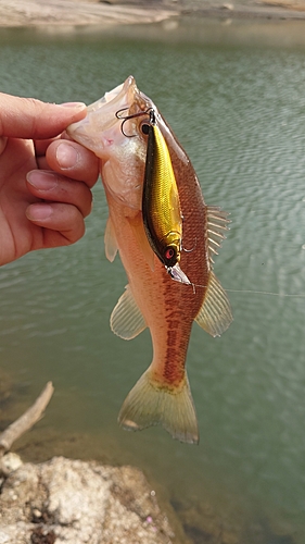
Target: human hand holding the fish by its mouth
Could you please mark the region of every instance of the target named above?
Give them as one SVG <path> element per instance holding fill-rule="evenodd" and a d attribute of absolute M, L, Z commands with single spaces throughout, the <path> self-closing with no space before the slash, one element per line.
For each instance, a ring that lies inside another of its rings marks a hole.
<path fill-rule="evenodd" d="M 0 265 L 84 235 L 99 162 L 59 136 L 85 116 L 81 103 L 56 106 L 0 92 Z"/>

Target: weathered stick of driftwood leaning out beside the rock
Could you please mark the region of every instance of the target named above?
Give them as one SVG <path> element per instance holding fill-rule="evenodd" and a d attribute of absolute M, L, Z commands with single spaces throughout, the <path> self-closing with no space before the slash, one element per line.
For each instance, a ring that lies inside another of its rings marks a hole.
<path fill-rule="evenodd" d="M 53 395 L 53 391 L 52 382 L 48 382 L 34 405 L 0 434 L 0 470 L 1 458 L 11 449 L 12 444 L 42 418 L 43 411 Z"/>

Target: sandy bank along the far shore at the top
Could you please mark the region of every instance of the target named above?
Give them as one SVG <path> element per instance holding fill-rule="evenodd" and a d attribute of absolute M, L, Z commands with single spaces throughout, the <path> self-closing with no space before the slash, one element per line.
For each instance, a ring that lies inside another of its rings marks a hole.
<path fill-rule="evenodd" d="M 0 26 L 145 24 L 190 14 L 305 20 L 305 0 L 0 0 Z"/>

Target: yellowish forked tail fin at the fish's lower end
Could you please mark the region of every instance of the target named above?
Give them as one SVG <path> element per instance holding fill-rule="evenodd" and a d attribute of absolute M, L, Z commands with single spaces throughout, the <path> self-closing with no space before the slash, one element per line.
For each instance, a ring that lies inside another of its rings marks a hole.
<path fill-rule="evenodd" d="M 149 368 L 127 395 L 118 423 L 128 431 L 161 424 L 173 438 L 198 444 L 198 421 L 187 374 L 182 386 L 175 391 L 152 380 Z"/>

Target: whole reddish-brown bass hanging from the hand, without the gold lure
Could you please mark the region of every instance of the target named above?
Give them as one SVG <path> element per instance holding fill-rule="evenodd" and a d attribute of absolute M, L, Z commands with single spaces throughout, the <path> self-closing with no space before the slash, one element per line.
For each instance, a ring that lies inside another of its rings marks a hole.
<path fill-rule="evenodd" d="M 173 281 L 152 249 L 143 222 L 149 135 L 142 128 L 150 125 L 152 111 L 177 184 L 180 210 L 176 211 L 182 215 L 179 267 L 189 283 Z M 69 125 L 67 134 L 101 160 L 109 207 L 105 255 L 112 262 L 118 252 L 128 280 L 111 314 L 111 329 L 132 339 L 148 327 L 152 338 L 152 362 L 124 400 L 118 423 L 131 431 L 160 424 L 174 438 L 198 444 L 187 350 L 194 321 L 214 337 L 232 321 L 213 259 L 226 237 L 228 213 L 206 206 L 189 157 L 132 76 L 89 106 L 87 116 Z"/>

